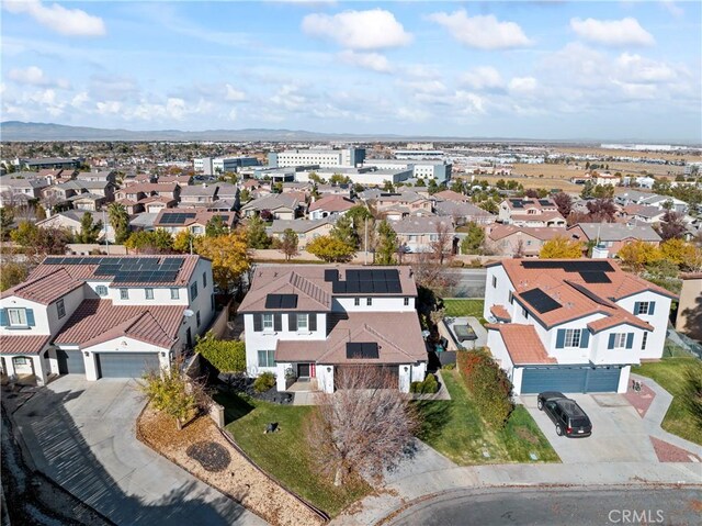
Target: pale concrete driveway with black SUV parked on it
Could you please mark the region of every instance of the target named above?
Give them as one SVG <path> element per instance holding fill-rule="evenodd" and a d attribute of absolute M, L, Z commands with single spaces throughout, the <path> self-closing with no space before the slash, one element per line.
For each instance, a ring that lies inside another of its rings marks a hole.
<path fill-rule="evenodd" d="M 521 401 L 564 463 L 658 462 L 644 421 L 621 394 L 568 394 L 592 422 L 592 435 L 567 438 L 556 435 L 551 418 L 536 407 L 536 395 Z"/>

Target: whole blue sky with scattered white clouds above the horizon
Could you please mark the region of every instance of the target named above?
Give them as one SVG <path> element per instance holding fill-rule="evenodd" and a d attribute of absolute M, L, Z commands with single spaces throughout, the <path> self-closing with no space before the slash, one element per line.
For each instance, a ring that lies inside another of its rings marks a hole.
<path fill-rule="evenodd" d="M 702 2 L 2 0 L 2 121 L 702 143 Z"/>

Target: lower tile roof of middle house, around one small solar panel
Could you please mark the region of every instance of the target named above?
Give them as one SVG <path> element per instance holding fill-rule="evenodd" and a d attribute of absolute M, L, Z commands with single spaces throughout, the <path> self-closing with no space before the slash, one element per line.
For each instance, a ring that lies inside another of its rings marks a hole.
<path fill-rule="evenodd" d="M 376 343 L 378 358 L 347 358 L 348 343 Z M 416 312 L 351 312 L 325 340 L 279 340 L 275 359 L 332 365 L 414 363 L 427 359 L 427 348 Z"/>

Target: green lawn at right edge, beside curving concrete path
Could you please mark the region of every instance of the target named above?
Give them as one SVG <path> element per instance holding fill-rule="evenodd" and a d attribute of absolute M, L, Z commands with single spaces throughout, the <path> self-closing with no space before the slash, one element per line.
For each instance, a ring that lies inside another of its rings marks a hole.
<path fill-rule="evenodd" d="M 682 405 L 683 373 L 688 367 L 700 367 L 694 357 L 664 358 L 657 362 L 632 367 L 632 372 L 653 378 L 656 383 L 672 394 L 672 403 L 663 421 L 663 428 L 695 444 L 702 445 L 702 428 Z"/>

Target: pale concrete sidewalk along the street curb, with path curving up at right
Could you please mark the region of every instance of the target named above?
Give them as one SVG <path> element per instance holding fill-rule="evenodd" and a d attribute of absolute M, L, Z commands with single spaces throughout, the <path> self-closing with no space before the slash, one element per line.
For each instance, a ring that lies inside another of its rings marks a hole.
<path fill-rule="evenodd" d="M 634 376 L 633 376 L 634 377 Z M 638 377 L 636 377 L 638 379 Z M 656 391 L 654 403 L 644 421 L 652 436 L 687 449 L 695 455 L 702 448 L 660 428 L 672 396 L 649 378 L 643 379 Z M 595 438 L 595 437 L 593 437 Z M 607 448 L 607 444 L 601 445 Z M 702 463 L 695 462 L 610 462 L 543 465 L 492 465 L 457 467 L 426 445 L 416 456 L 386 477 L 386 485 L 376 495 L 361 502 L 356 513 L 340 515 L 337 526 L 374 525 L 407 506 L 411 501 L 457 489 L 496 486 L 614 486 L 642 484 L 690 484 L 702 486 Z M 385 491 L 383 491 L 385 490 Z"/>

